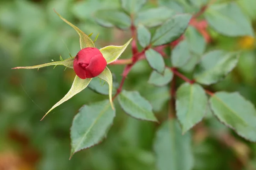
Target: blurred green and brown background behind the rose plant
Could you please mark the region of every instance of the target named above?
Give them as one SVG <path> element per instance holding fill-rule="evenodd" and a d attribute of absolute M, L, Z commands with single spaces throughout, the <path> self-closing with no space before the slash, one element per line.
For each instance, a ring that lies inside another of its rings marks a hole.
<path fill-rule="evenodd" d="M 247 3 L 242 10 L 256 28 L 256 5 L 250 5 L 252 0 L 241 1 Z M 155 6 L 157 0 L 148 0 L 143 9 Z M 119 0 L 0 0 L 0 170 L 156 169 L 152 142 L 159 125 L 127 116 L 117 103 L 116 118 L 107 139 L 69 160 L 73 117 L 82 105 L 108 96 L 86 88 L 40 122 L 45 112 L 70 89 L 75 73 L 70 69 L 64 71 L 63 66 L 39 71 L 11 70 L 58 61 L 60 55 L 67 59 L 69 51 L 72 56 L 79 51 L 79 36 L 58 18 L 53 8 L 86 34 L 93 32 L 93 38 L 99 33 L 98 48 L 124 44 L 131 37 L 129 31 L 103 28 L 93 19 L 93 13 L 99 9 L 119 7 Z M 223 82 L 213 85 L 212 90 L 239 91 L 256 105 L 255 38 L 231 38 L 209 32 L 212 42 L 207 48 L 243 50 L 237 67 Z M 130 46 L 122 54 L 122 58 L 128 57 Z M 123 67 L 110 66 L 116 82 L 122 78 Z M 161 120 L 167 116 L 169 88 L 149 85 L 150 73 L 147 62 L 138 62 L 124 88 L 140 91 Z M 256 144 L 241 139 L 212 115 L 207 115 L 204 124 L 207 130 L 198 125 L 192 132 L 195 170 L 256 168 Z M 233 138 L 226 139 L 225 134 L 232 134 Z"/>

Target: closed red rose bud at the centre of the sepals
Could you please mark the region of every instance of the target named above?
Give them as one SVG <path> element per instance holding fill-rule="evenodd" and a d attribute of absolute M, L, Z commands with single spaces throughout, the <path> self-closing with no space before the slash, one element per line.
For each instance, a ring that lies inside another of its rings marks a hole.
<path fill-rule="evenodd" d="M 73 62 L 74 71 L 81 79 L 93 78 L 102 73 L 107 61 L 97 48 L 83 48 L 77 54 Z"/>

